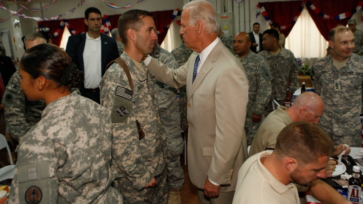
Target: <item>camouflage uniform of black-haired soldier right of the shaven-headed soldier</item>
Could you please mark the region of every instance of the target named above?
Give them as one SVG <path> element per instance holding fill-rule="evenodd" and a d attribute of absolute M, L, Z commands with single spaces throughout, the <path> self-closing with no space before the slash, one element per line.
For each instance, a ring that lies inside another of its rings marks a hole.
<path fill-rule="evenodd" d="M 271 81 L 271 100 L 265 108 L 265 116 L 267 116 L 272 112 L 272 99 L 285 106 L 287 83 L 289 83 L 288 88 L 291 93 L 294 93 L 299 88 L 299 67 L 294 54 L 285 48 L 281 48 L 277 55 L 267 50 L 263 50 L 258 54 L 266 59 L 273 77 Z"/>

